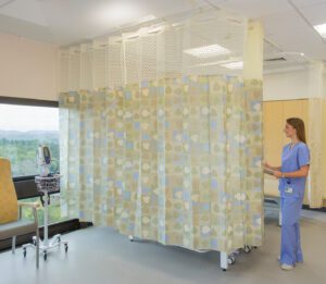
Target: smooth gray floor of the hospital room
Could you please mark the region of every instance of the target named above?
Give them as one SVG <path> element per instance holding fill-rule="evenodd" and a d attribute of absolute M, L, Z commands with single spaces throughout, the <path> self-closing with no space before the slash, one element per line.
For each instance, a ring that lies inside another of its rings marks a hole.
<path fill-rule="evenodd" d="M 63 248 L 40 261 L 35 269 L 35 254 L 26 259 L 0 254 L 0 284 L 12 283 L 325 283 L 326 213 L 303 211 L 301 220 L 303 264 L 281 271 L 276 261 L 279 231 L 275 206 L 266 205 L 265 244 L 251 254 L 240 254 L 227 272 L 220 269 L 220 254 L 199 254 L 154 243 L 130 243 L 110 227 L 91 227 L 70 233 L 70 251 Z"/>

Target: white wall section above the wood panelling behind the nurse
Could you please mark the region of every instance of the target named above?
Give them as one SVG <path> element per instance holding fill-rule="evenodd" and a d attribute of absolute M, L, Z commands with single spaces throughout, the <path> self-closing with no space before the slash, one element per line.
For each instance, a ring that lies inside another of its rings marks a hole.
<path fill-rule="evenodd" d="M 309 71 L 291 71 L 264 75 L 263 100 L 309 98 Z"/>

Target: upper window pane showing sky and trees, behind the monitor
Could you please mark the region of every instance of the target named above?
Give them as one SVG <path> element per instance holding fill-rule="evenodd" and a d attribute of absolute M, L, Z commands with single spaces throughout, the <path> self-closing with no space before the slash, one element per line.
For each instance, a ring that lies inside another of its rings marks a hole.
<path fill-rule="evenodd" d="M 38 174 L 38 145 L 50 148 L 50 170 L 58 170 L 59 109 L 0 103 L 0 157 L 10 159 L 14 177 Z"/>

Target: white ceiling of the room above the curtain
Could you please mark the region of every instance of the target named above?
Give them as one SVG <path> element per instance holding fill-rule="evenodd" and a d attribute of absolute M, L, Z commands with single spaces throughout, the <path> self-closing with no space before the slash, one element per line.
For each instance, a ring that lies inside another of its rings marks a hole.
<path fill-rule="evenodd" d="M 326 62 L 326 0 L 0 0 L 0 32 L 66 46 L 208 4 L 262 20 L 269 69 Z"/>

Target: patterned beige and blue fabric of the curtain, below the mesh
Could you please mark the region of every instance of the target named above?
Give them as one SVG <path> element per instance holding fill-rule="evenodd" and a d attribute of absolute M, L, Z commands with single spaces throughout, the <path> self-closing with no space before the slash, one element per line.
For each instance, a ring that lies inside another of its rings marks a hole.
<path fill-rule="evenodd" d="M 259 246 L 262 82 L 186 76 L 61 94 L 67 212 L 190 249 Z"/>

